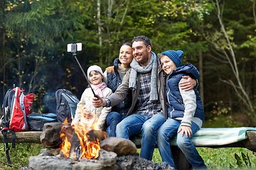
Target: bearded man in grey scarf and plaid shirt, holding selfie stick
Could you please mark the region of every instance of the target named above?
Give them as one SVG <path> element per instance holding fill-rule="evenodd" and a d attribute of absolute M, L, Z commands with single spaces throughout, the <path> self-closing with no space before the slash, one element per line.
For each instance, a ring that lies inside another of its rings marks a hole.
<path fill-rule="evenodd" d="M 93 105 L 115 106 L 123 101 L 132 89 L 132 106 L 127 118 L 117 125 L 117 137 L 129 139 L 142 132 L 142 149 L 140 156 L 151 160 L 156 145 L 156 132 L 165 122 L 166 94 L 165 76 L 156 54 L 151 51 L 151 41 L 144 35 L 132 40 L 134 60 L 131 69 L 124 76 L 122 84 L 107 98 L 94 98 Z M 191 85 L 193 84 L 193 85 Z M 189 79 L 183 84 L 185 89 L 195 86 L 196 81 Z"/>

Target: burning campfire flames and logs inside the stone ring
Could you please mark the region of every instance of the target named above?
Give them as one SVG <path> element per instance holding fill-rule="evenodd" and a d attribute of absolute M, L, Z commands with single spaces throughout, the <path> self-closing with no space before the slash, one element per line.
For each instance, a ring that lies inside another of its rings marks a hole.
<path fill-rule="evenodd" d="M 106 132 L 82 125 L 68 125 L 65 121 L 60 131 L 60 156 L 71 159 L 97 159 L 100 154 L 100 140 L 107 138 Z M 92 130 L 90 130 L 92 129 Z"/>

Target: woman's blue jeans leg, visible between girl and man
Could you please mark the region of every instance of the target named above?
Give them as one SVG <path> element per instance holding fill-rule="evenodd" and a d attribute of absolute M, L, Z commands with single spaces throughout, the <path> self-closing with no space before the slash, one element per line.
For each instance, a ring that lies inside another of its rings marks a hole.
<path fill-rule="evenodd" d="M 107 124 L 107 135 L 109 137 L 116 137 L 117 124 L 120 123 L 127 115 L 120 115 L 117 112 L 110 112 L 107 114 L 106 124 Z"/>

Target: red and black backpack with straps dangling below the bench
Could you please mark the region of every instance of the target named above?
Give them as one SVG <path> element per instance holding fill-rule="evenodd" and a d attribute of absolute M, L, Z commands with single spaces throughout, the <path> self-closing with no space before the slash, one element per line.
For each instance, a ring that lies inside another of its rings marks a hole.
<path fill-rule="evenodd" d="M 2 126 L 1 133 L 3 134 L 3 140 L 6 144 L 6 156 L 8 162 L 11 164 L 9 157 L 9 146 L 7 140 L 7 133 L 11 132 L 13 139 L 13 147 L 15 147 L 16 135 L 15 132 L 28 131 L 28 123 L 26 121 L 26 115 L 31 113 L 31 106 L 33 103 L 34 94 L 23 94 L 23 90 L 19 87 L 9 89 L 4 96 L 4 102 L 2 105 L 3 115 L 0 120 Z"/>

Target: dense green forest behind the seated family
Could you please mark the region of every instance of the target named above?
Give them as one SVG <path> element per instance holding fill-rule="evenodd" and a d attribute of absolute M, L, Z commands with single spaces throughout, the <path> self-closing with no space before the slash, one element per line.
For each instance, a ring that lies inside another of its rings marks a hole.
<path fill-rule="evenodd" d="M 255 0 L 1 0 L 0 103 L 20 86 L 33 112 L 55 112 L 55 91 L 80 98 L 85 77 L 67 45 L 82 42 L 86 71 L 113 64 L 137 35 L 152 49 L 183 50 L 200 71 L 206 127 L 255 126 Z"/>

